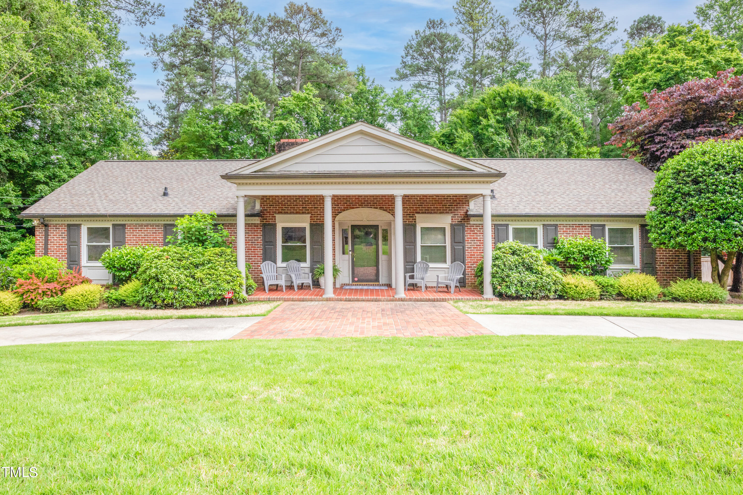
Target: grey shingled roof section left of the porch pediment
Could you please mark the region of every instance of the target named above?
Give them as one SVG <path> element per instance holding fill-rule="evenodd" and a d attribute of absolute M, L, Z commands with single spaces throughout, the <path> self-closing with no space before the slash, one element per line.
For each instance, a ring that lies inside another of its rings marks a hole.
<path fill-rule="evenodd" d="M 19 217 L 173 217 L 199 210 L 236 214 L 237 186 L 219 174 L 256 160 L 103 160 L 63 184 Z M 163 196 L 163 188 L 168 196 Z M 255 200 L 246 198 L 247 213 Z"/>

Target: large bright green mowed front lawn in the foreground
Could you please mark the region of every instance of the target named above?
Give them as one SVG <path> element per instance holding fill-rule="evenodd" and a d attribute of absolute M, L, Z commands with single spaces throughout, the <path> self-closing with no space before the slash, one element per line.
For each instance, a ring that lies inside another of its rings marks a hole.
<path fill-rule="evenodd" d="M 1 347 L 12 494 L 740 494 L 743 343 Z"/>

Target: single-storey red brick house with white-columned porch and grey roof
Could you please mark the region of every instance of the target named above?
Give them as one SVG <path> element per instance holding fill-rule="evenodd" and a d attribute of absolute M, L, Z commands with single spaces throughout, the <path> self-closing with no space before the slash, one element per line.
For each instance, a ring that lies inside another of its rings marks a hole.
<path fill-rule="evenodd" d="M 98 261 L 106 249 L 163 246 L 175 219 L 198 211 L 217 214 L 259 284 L 265 260 L 282 271 L 292 259 L 339 265 L 325 296 L 380 283 L 405 297 L 403 274 L 418 260 L 432 280 L 460 261 L 474 286 L 493 243 L 549 248 L 558 236 L 606 239 L 611 271 L 664 284 L 701 272 L 698 252 L 649 244 L 654 174 L 634 160 L 468 160 L 365 122 L 276 148 L 263 160 L 104 160 L 20 216 L 35 220 L 36 255 L 96 283 L 111 281 Z"/>

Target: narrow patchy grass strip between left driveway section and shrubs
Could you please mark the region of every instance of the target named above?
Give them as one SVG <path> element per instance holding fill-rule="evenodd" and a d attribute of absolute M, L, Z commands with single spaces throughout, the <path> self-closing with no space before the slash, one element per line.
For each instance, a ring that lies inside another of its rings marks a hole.
<path fill-rule="evenodd" d="M 120 320 L 169 320 L 171 318 L 227 318 L 230 316 L 265 316 L 281 303 L 269 301 L 250 301 L 229 306 L 202 306 L 189 309 L 135 309 L 101 308 L 91 311 L 65 311 L 61 313 L 42 313 L 24 311 L 17 315 L 0 316 L 0 327 L 19 325 L 44 325 L 53 323 L 81 323 L 83 321 Z"/>

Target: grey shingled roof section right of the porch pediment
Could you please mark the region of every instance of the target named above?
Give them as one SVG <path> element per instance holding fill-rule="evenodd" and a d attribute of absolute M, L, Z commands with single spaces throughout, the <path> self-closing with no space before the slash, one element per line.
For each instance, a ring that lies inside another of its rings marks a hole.
<path fill-rule="evenodd" d="M 506 173 L 493 183 L 493 216 L 642 216 L 655 173 L 625 158 L 473 158 Z M 482 198 L 470 214 L 482 214 Z"/>

